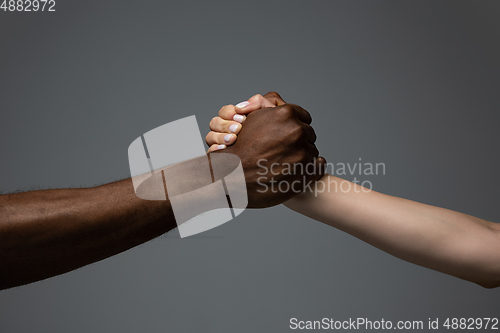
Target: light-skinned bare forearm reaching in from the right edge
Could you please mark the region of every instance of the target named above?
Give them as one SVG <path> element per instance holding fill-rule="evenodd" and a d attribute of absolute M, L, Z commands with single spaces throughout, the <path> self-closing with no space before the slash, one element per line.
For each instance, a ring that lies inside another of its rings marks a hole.
<path fill-rule="evenodd" d="M 397 198 L 325 175 L 330 191 L 302 193 L 285 205 L 417 265 L 500 286 L 500 228 L 470 215 Z M 342 191 L 347 189 L 347 191 Z M 321 188 L 318 188 L 321 190 Z"/>

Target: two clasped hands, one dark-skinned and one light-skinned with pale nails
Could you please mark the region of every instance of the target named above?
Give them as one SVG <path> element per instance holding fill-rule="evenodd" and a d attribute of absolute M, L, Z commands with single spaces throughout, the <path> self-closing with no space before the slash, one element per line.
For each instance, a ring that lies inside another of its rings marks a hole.
<path fill-rule="evenodd" d="M 208 153 L 227 152 L 242 163 L 249 208 L 278 205 L 310 188 L 326 161 L 315 146 L 309 112 L 276 92 L 226 105 L 210 121 Z"/>

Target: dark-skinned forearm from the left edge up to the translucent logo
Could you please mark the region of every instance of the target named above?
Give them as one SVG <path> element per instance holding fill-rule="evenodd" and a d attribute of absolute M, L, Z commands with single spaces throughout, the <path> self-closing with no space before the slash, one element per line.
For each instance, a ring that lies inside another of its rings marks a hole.
<path fill-rule="evenodd" d="M 139 199 L 131 179 L 0 196 L 0 289 L 62 274 L 176 226 L 170 202 Z"/>

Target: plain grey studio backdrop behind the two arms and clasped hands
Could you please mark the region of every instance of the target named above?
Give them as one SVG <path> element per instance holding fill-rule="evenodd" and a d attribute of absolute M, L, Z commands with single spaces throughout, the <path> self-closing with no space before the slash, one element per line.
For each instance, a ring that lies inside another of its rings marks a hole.
<path fill-rule="evenodd" d="M 0 12 L 0 189 L 128 177 L 128 145 L 276 90 L 329 162 L 383 193 L 500 221 L 496 1 L 56 1 Z M 179 142 L 182 149 L 182 142 Z M 404 223 L 404 221 L 402 221 Z M 176 231 L 0 292 L 0 332 L 288 332 L 289 320 L 498 317 L 500 290 L 284 206 Z"/>

